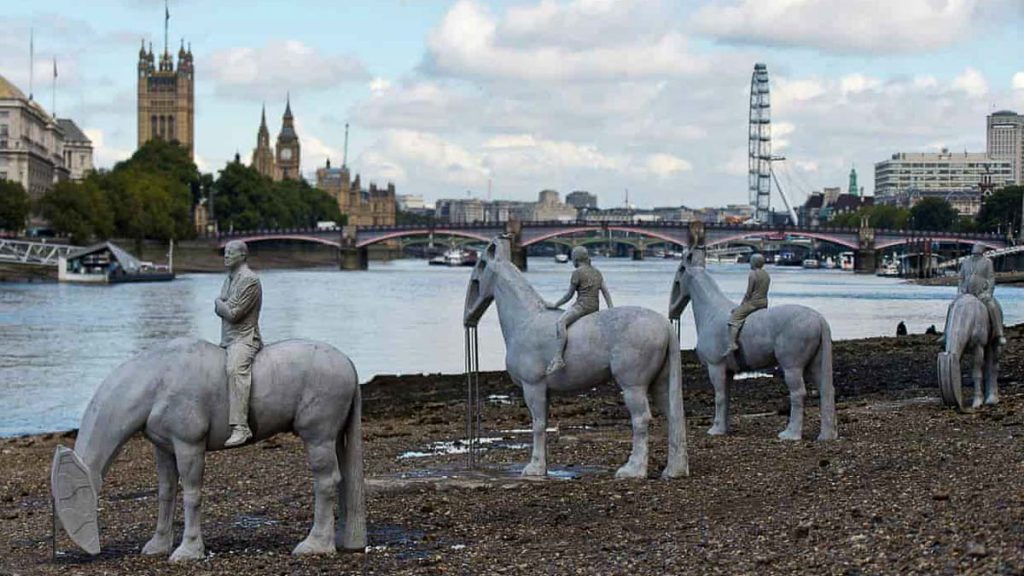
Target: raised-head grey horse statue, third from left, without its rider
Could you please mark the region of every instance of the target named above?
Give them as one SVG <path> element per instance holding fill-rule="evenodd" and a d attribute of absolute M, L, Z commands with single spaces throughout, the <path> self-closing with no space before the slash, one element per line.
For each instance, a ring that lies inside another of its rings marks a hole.
<path fill-rule="evenodd" d="M 804 429 L 805 380 L 818 384 L 821 431 L 818 440 L 838 437 L 836 393 L 833 387 L 831 329 L 817 312 L 801 305 L 771 306 L 748 317 L 739 335 L 739 351 L 729 347 L 729 300 L 705 270 L 703 250 L 687 250 L 672 284 L 669 318 L 678 320 L 693 302 L 696 353 L 708 367 L 715 387 L 715 421 L 708 434 L 729 431 L 729 388 L 736 372 L 778 365 L 790 388 L 790 423 L 782 440 L 800 440 Z"/>

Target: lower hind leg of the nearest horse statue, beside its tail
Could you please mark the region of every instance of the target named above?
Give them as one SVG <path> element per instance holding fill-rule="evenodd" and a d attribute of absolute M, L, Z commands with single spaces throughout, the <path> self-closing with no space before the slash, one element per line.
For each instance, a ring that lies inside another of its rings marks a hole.
<path fill-rule="evenodd" d="M 335 440 L 308 441 L 306 453 L 309 455 L 309 467 L 313 471 L 313 527 L 306 539 L 299 542 L 292 550 L 293 554 L 327 554 L 334 553 L 334 508 L 338 503 L 338 484 L 341 472 L 338 471 L 338 453 L 335 450 Z"/>

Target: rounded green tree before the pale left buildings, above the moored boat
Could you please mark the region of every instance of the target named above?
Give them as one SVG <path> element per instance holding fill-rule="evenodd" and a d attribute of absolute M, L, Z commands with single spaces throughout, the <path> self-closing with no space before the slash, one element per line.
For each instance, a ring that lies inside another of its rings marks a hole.
<path fill-rule="evenodd" d="M 43 217 L 75 244 L 87 244 L 114 233 L 114 212 L 99 179 L 90 175 L 82 182 L 59 182 L 40 199 Z"/>

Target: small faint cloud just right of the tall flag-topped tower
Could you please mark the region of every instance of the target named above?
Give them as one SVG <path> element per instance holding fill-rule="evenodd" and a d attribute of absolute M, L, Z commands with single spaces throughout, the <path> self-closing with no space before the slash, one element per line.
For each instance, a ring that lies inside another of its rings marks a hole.
<path fill-rule="evenodd" d="M 218 94 L 264 99 L 286 90 L 323 90 L 364 82 L 369 73 L 351 56 L 324 54 L 298 40 L 270 41 L 259 48 L 227 48 L 197 59 Z"/>

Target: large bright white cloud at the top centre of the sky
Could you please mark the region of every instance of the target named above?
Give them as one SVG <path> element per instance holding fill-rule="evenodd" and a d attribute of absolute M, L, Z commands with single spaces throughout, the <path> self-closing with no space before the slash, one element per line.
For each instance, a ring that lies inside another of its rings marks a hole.
<path fill-rule="evenodd" d="M 615 42 L 579 45 L 570 31 L 547 33 L 554 23 L 582 22 L 599 30 L 624 22 L 602 4 L 577 0 L 510 9 L 504 26 L 474 0 L 460 0 L 427 39 L 425 68 L 438 75 L 531 81 L 598 81 L 679 76 L 706 70 L 708 63 L 687 49 L 677 31 L 629 35 Z M 601 20 L 608 16 L 607 20 Z M 541 30 L 535 25 L 541 23 Z M 525 38 L 524 38 L 525 36 Z"/>

